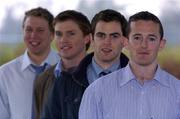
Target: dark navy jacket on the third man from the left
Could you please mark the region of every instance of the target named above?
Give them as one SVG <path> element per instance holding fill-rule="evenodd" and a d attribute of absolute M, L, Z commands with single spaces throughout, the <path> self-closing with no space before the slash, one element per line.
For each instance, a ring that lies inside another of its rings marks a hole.
<path fill-rule="evenodd" d="M 93 53 L 87 55 L 73 74 L 62 73 L 55 81 L 43 108 L 41 119 L 78 119 L 80 102 L 89 83 L 87 67 L 91 63 Z M 121 68 L 128 63 L 128 58 L 121 53 Z"/>

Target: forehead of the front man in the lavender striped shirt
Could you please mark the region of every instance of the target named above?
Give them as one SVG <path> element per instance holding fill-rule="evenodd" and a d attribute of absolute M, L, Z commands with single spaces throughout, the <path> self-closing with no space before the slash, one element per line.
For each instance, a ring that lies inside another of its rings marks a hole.
<path fill-rule="evenodd" d="M 133 21 L 130 24 L 130 33 L 133 32 L 142 32 L 142 33 L 155 33 L 159 34 L 160 28 L 159 24 L 155 23 L 153 21 L 146 21 L 146 20 L 138 20 L 138 21 Z M 160 35 L 160 34 L 159 34 Z"/>

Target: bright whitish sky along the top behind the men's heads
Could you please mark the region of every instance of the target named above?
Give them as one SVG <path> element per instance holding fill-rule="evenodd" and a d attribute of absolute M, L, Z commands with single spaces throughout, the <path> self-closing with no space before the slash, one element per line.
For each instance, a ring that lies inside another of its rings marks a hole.
<path fill-rule="evenodd" d="M 138 11 L 147 10 L 161 17 L 164 15 L 162 9 L 165 10 L 166 8 L 178 10 L 180 15 L 180 0 L 81 0 L 81 2 L 82 1 L 88 3 L 89 6 L 97 1 L 102 3 L 105 1 L 113 1 L 115 5 L 125 6 L 122 12 L 125 13 L 126 16 Z M 13 10 L 11 11 L 13 19 L 20 21 L 23 18 L 24 12 L 33 7 L 42 6 L 50 10 L 54 15 L 57 15 L 62 10 L 77 9 L 79 2 L 80 0 L 3 0 L 0 3 L 0 30 L 2 31 L 4 25 L 3 20 L 10 9 Z M 2 39 L 0 39 L 0 41 L 1 40 Z"/>

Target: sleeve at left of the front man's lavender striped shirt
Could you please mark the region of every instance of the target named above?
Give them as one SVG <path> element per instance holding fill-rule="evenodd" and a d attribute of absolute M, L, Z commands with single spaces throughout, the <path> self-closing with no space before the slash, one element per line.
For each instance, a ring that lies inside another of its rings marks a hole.
<path fill-rule="evenodd" d="M 90 85 L 81 101 L 79 119 L 103 119 L 101 107 L 100 93 L 94 85 Z"/>

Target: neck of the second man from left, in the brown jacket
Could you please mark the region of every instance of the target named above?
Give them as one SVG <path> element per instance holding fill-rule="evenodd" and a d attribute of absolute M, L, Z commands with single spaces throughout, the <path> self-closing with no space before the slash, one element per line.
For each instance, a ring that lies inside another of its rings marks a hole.
<path fill-rule="evenodd" d="M 81 60 L 86 56 L 85 53 L 82 53 L 75 58 L 61 58 L 62 59 L 62 65 L 63 69 L 66 71 L 72 67 L 77 67 Z"/>

